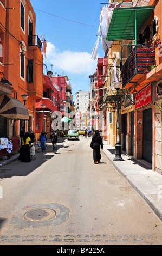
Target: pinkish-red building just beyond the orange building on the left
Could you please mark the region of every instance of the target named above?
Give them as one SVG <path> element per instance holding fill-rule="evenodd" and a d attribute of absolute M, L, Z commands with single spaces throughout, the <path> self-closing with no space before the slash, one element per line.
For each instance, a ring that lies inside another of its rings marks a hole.
<path fill-rule="evenodd" d="M 53 76 L 51 71 L 43 75 L 43 98 L 36 100 L 36 139 L 39 138 L 42 130 L 50 137 L 52 113 L 61 112 L 64 116 L 66 103 L 66 80 L 63 76 Z"/>

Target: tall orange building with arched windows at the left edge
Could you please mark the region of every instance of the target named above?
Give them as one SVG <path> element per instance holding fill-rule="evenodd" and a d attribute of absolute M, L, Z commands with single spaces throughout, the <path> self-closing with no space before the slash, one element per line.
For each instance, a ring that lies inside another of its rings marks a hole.
<path fill-rule="evenodd" d="M 35 26 L 36 15 L 29 0 L 0 1 L 0 81 L 4 76 L 11 82 L 12 93 L 5 95 L 14 99 L 12 115 L 7 105 L 8 116 L 0 111 L 0 123 L 6 130 L 3 137 L 18 136 L 20 126 L 35 132 L 35 101 L 43 97 L 42 42 L 35 35 Z M 28 95 L 27 101 L 23 101 L 24 94 Z M 1 99 L 3 95 L 2 90 Z"/>

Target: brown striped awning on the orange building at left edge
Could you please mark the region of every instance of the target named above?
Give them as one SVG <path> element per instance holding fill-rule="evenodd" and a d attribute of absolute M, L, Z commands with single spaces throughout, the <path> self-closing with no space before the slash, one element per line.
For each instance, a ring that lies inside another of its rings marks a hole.
<path fill-rule="evenodd" d="M 12 97 L 0 95 L 0 115 L 9 119 L 29 120 L 28 109 Z"/>

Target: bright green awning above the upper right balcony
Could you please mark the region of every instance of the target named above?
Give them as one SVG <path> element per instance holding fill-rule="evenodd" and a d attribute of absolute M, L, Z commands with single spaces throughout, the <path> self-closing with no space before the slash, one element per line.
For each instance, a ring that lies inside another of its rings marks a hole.
<path fill-rule="evenodd" d="M 115 8 L 108 28 L 108 41 L 135 39 L 145 21 L 148 19 L 153 6 L 132 8 Z"/>

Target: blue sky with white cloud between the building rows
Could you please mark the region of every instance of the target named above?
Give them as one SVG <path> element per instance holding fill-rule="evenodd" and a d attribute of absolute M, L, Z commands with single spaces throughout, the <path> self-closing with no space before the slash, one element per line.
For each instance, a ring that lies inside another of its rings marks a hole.
<path fill-rule="evenodd" d="M 36 14 L 36 34 L 45 34 L 44 38 L 48 41 L 44 64 L 54 75 L 68 76 L 75 101 L 78 90 L 89 90 L 89 75 L 95 72 L 98 57 L 104 55 L 100 42 L 98 57 L 96 60 L 90 58 L 97 39 L 101 8 L 104 5 L 101 3 L 106 1 L 30 2 Z"/>

